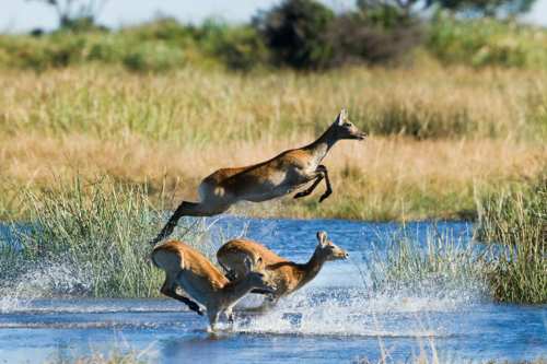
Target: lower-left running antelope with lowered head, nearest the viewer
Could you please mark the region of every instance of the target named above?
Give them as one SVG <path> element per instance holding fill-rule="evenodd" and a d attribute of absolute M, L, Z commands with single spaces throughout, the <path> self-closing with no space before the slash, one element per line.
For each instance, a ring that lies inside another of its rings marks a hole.
<path fill-rule="evenodd" d="M 233 282 L 229 281 L 201 253 L 182 242 L 171 240 L 155 247 L 152 251 L 152 261 L 165 271 L 165 282 L 161 292 L 168 297 L 179 300 L 182 296 L 175 290 L 176 286 L 183 289 L 191 298 L 206 307 L 212 331 L 222 313 L 233 322 L 233 306 L 252 290 L 259 290 L 263 293 L 271 293 L 275 290 L 268 275 L 263 272 L 264 265 L 260 259 L 255 260 L 255 265 L 251 259 L 245 260 L 243 265 L 247 274 Z M 196 303 L 194 305 L 197 306 Z M 194 310 L 201 315 L 199 306 Z"/>

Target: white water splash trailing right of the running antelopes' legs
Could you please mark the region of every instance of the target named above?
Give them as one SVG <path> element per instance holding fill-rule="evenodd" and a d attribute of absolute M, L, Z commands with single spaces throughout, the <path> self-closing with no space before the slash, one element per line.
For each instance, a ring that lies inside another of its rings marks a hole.
<path fill-rule="evenodd" d="M 245 315 L 234 331 L 275 334 L 445 337 L 445 314 L 468 309 L 474 294 L 371 293 L 363 289 L 304 290 L 264 315 Z M 424 325 L 428 322 L 428 325 Z"/>

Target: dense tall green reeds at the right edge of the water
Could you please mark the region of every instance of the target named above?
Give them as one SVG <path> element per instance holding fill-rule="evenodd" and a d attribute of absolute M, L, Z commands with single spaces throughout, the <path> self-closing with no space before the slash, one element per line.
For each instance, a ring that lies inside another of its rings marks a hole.
<path fill-rule="evenodd" d="M 478 202 L 478 238 L 501 245 L 489 273 L 502 302 L 547 303 L 547 176 Z"/>

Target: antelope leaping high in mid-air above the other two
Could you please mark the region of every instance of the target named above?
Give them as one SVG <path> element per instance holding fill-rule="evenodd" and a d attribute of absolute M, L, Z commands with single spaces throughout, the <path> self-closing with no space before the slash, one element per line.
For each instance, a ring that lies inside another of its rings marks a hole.
<path fill-rule="evenodd" d="M 170 236 L 182 216 L 211 216 L 226 211 L 237 201 L 267 201 L 313 181 L 309 188 L 294 195 L 294 198 L 301 198 L 312 193 L 325 179 L 326 191 L 319 198 L 322 202 L 333 190 L 327 168 L 321 162 L 337 141 L 363 140 L 365 136 L 348 120 L 348 113 L 342 109 L 335 122 L 311 144 L 284 151 L 263 163 L 219 169 L 199 185 L 200 202 L 183 201 L 150 243 L 154 245 Z"/>

